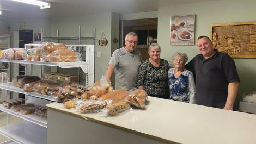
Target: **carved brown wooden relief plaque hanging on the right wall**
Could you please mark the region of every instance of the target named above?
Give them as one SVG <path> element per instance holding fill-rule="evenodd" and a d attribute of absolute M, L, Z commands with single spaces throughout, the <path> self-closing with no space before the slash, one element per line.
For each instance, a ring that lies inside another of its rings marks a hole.
<path fill-rule="evenodd" d="M 232 58 L 256 58 L 256 22 L 211 24 L 210 34 L 217 51 Z"/>

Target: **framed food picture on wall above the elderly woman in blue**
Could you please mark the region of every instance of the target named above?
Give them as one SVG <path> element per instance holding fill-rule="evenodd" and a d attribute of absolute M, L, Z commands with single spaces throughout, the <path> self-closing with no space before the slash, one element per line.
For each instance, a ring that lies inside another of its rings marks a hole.
<path fill-rule="evenodd" d="M 170 45 L 194 45 L 195 15 L 170 17 Z"/>

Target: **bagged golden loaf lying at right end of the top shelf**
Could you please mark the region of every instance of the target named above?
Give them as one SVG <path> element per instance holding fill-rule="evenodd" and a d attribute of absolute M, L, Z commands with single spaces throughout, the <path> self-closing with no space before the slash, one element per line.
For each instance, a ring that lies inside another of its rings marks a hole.
<path fill-rule="evenodd" d="M 70 49 L 57 49 L 48 54 L 46 59 L 50 62 L 69 62 L 69 61 L 81 61 L 81 54 L 76 54 Z"/>

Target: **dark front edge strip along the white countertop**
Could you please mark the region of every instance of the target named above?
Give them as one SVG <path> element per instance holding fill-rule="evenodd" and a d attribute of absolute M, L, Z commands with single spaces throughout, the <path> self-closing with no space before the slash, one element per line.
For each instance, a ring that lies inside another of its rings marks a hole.
<path fill-rule="evenodd" d="M 117 125 L 114 125 L 114 124 L 111 124 L 111 123 L 102 122 L 102 121 L 99 121 L 99 120 L 96 120 L 94 118 L 90 118 L 90 117 L 87 117 L 87 116 L 84 116 L 84 115 L 81 115 L 81 114 L 75 114 L 73 112 L 68 112 L 68 111 L 63 111 L 63 110 L 60 110 L 60 109 L 48 107 L 47 105 L 45 105 L 45 108 L 53 110 L 53 111 L 58 111 L 60 113 L 66 114 L 66 115 L 75 116 L 75 117 L 81 118 L 83 120 L 87 119 L 88 121 L 99 123 L 99 124 L 103 124 L 105 126 L 112 127 L 112 128 L 119 129 L 119 130 L 123 130 L 125 132 L 129 132 L 129 133 L 132 133 L 132 134 L 141 135 L 141 136 L 147 137 L 147 138 L 149 138 L 151 140 L 156 140 L 156 141 L 160 141 L 160 142 L 163 142 L 163 143 L 169 143 L 169 144 L 176 144 L 176 143 L 178 143 L 178 142 L 174 142 L 174 141 L 163 139 L 161 137 L 157 137 L 157 136 L 141 133 L 141 132 L 138 132 L 136 130 L 128 129 L 128 128 L 125 128 L 125 127 L 120 127 L 120 126 L 117 126 Z"/>

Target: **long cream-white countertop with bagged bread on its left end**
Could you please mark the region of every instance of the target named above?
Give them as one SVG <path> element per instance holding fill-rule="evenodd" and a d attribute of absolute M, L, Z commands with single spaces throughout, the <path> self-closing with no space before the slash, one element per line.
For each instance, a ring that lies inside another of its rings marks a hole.
<path fill-rule="evenodd" d="M 76 114 L 62 103 L 46 108 L 166 143 L 256 143 L 256 115 L 196 104 L 148 98 L 146 110 L 133 109 L 114 117 Z"/>

